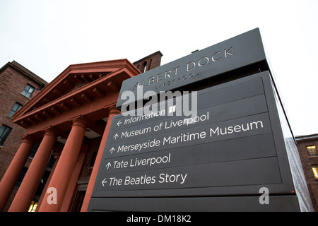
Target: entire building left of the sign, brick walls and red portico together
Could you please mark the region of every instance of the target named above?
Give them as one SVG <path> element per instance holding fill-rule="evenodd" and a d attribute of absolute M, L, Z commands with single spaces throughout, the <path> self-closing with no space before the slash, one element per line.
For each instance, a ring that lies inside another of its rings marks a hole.
<path fill-rule="evenodd" d="M 14 71 L 24 76 L 22 69 L 31 72 L 14 61 L 6 64 L 0 71 L 0 85 L 6 83 L 0 91 L 9 86 L 13 90 L 6 95 L 15 93 L 15 98 L 1 109 L 9 127 L 3 129 L 1 149 L 10 146 L 10 153 L 2 151 L 0 156 L 5 161 L 0 170 L 0 210 L 85 211 L 110 122 L 119 114 L 115 106 L 122 81 L 141 73 L 138 66 L 143 71 L 160 66 L 162 56 L 155 52 L 134 64 L 126 59 L 74 64 L 49 84 L 36 83 L 35 78 L 41 80 L 33 73 L 30 81 L 14 76 Z M 20 88 L 22 98 L 32 92 L 34 98 L 20 100 Z M 13 107 L 15 102 L 22 107 Z M 11 109 L 20 110 L 8 117 Z M 48 187 L 59 190 L 56 209 L 42 202 Z"/>

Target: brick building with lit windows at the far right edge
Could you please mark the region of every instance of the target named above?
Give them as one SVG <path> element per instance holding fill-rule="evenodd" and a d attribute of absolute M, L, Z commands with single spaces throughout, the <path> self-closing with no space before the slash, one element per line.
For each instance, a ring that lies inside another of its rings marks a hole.
<path fill-rule="evenodd" d="M 314 211 L 318 211 L 318 134 L 296 136 L 297 148 L 302 161 L 307 187 Z"/>

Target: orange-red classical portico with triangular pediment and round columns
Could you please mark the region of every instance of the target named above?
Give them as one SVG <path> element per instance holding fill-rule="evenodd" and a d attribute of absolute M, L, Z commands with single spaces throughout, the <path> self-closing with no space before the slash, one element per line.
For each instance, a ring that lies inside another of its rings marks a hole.
<path fill-rule="evenodd" d="M 120 86 L 125 79 L 139 73 L 126 59 L 71 65 L 24 105 L 13 116 L 14 122 L 26 132 L 1 180 L 0 208 L 6 205 L 30 150 L 38 143 L 9 211 L 28 210 L 53 152 L 56 161 L 37 211 L 70 210 L 80 186 L 79 177 L 87 180 L 81 206 L 86 211 L 112 117 L 119 114 L 115 106 Z M 93 159 L 93 147 L 97 150 L 95 164 L 89 169 L 86 162 Z M 57 190 L 56 204 L 47 202 L 48 188 Z"/>

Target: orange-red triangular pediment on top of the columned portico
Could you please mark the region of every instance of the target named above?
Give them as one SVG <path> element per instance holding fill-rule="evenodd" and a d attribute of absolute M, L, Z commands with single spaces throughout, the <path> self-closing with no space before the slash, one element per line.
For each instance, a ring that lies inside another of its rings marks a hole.
<path fill-rule="evenodd" d="M 16 112 L 13 119 L 26 128 L 95 98 L 119 92 L 122 81 L 139 73 L 126 59 L 70 65 Z"/>

